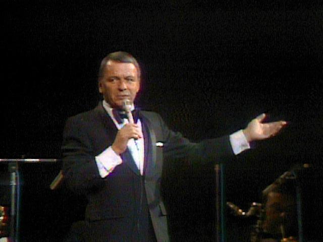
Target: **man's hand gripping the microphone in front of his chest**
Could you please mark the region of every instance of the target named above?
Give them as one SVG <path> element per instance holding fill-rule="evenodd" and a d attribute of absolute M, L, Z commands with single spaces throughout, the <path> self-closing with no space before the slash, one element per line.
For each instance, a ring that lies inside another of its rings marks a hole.
<path fill-rule="evenodd" d="M 116 139 L 113 142 L 112 149 L 118 155 L 122 154 L 127 149 L 127 144 L 130 139 L 142 138 L 142 133 L 138 129 L 136 124 L 126 124 L 117 133 Z"/>

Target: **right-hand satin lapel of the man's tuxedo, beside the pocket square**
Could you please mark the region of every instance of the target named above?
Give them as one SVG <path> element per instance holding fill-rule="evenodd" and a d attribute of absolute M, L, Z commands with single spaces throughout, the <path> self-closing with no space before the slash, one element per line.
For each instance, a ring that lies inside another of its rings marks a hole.
<path fill-rule="evenodd" d="M 156 136 L 151 128 L 149 119 L 143 112 L 139 112 L 139 117 L 142 124 L 142 133 L 145 143 L 145 158 L 144 158 L 144 174 L 146 177 L 153 175 L 154 166 L 156 163 Z"/>

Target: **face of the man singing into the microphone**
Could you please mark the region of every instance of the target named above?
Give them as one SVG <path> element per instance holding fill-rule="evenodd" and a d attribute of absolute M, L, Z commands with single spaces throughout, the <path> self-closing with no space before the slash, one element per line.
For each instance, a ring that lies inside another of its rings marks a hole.
<path fill-rule="evenodd" d="M 99 92 L 113 108 L 122 108 L 124 99 L 132 103 L 139 91 L 138 70 L 132 63 L 108 61 L 99 81 Z"/>

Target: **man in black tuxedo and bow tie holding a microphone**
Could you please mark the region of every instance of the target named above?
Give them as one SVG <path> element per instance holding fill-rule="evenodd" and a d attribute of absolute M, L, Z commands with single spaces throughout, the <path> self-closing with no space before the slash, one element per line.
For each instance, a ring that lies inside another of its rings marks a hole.
<path fill-rule="evenodd" d="M 249 148 L 251 141 L 274 136 L 286 125 L 262 124 L 263 114 L 244 131 L 191 143 L 170 131 L 157 113 L 134 110 L 132 122 L 129 112 L 128 118 L 118 113 L 125 102 L 134 109 L 140 67 L 122 51 L 102 60 L 98 86 L 104 100 L 68 119 L 62 148 L 68 187 L 88 199 L 87 241 L 169 241 L 160 196 L 164 156 L 225 162 Z"/>

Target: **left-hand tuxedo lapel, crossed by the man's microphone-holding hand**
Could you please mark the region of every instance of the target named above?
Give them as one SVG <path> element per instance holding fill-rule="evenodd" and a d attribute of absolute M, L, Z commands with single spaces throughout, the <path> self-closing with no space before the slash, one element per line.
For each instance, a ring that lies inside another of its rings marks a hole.
<path fill-rule="evenodd" d="M 97 105 L 95 110 L 98 112 L 98 115 L 100 116 L 100 119 L 102 120 L 102 123 L 103 123 L 104 127 L 106 128 L 107 137 L 109 137 L 109 143 L 112 144 L 117 136 L 118 129 L 117 129 L 115 123 L 113 122 L 112 118 L 110 117 L 110 115 L 103 108 L 102 102 L 100 102 Z M 127 164 L 133 172 L 135 172 L 137 175 L 140 174 L 138 167 L 137 167 L 134 159 L 132 158 L 132 155 L 131 155 L 130 151 L 128 150 L 128 148 L 121 155 L 121 158 L 122 158 L 122 162 Z"/>

